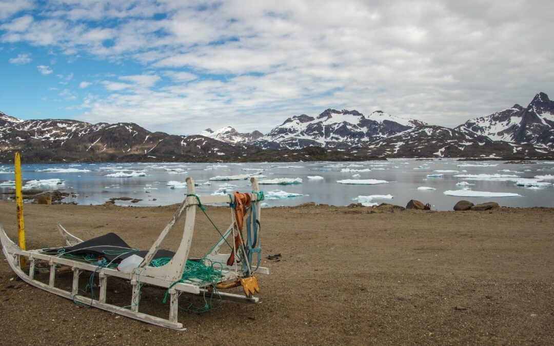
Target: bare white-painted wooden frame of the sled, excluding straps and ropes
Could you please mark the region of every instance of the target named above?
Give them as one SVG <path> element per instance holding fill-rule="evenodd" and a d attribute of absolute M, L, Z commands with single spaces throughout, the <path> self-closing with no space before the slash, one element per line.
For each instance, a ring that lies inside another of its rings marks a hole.
<path fill-rule="evenodd" d="M 178 299 L 181 293 L 189 293 L 193 295 L 202 295 L 206 292 L 211 292 L 213 287 L 209 283 L 189 283 L 189 282 L 179 282 L 175 283 L 182 277 L 182 273 L 185 270 L 186 261 L 188 259 L 189 250 L 191 248 L 192 236 L 194 231 L 194 220 L 196 216 L 196 209 L 199 204 L 209 204 L 209 203 L 234 203 L 233 195 L 221 195 L 221 196 L 197 196 L 195 195 L 194 190 L 194 181 L 192 178 L 187 178 L 187 197 L 184 199 L 183 203 L 179 206 L 175 215 L 171 221 L 166 225 L 166 227 L 158 236 L 158 239 L 152 244 L 150 250 L 148 251 L 145 259 L 131 272 L 122 272 L 117 271 L 116 269 L 107 268 L 107 267 L 98 267 L 94 264 L 88 262 L 73 260 L 64 258 L 58 255 L 44 254 L 44 250 L 22 250 L 17 246 L 9 237 L 6 235 L 2 226 L 0 226 L 0 241 L 2 242 L 2 250 L 4 256 L 9 262 L 9 265 L 12 267 L 12 270 L 25 282 L 33 285 L 35 287 L 41 288 L 42 290 L 55 293 L 59 296 L 72 299 L 74 302 L 81 304 L 86 304 L 96 308 L 104 309 L 112 313 L 120 314 L 122 316 L 138 319 L 139 321 L 155 324 L 161 327 L 167 327 L 171 329 L 184 330 L 183 324 L 177 321 L 177 311 L 178 311 Z M 260 200 L 263 199 L 263 194 L 260 194 L 258 182 L 255 178 L 251 179 L 252 182 L 252 193 L 250 195 L 252 208 L 255 208 L 255 218 L 259 221 L 260 218 Z M 181 218 L 183 213 L 186 214 L 183 236 L 181 243 L 175 253 L 175 256 L 168 262 L 166 265 L 160 267 L 151 267 L 148 266 L 150 261 L 155 256 L 158 251 L 162 241 L 165 239 L 167 234 L 171 231 L 173 226 Z M 231 213 L 234 215 L 233 213 Z M 253 214 L 254 215 L 254 214 Z M 234 216 L 232 216 L 232 223 L 223 234 L 223 237 L 217 242 L 216 246 L 213 247 L 212 251 L 209 252 L 206 257 L 206 260 L 219 262 L 223 264 L 224 270 L 222 275 L 218 280 L 218 283 L 229 283 L 229 282 L 240 282 L 241 279 L 252 277 L 255 273 L 269 274 L 268 268 L 264 267 L 255 267 L 252 264 L 248 263 L 247 256 L 243 256 L 243 262 L 246 261 L 247 270 L 245 269 L 244 263 L 237 263 L 237 256 L 234 256 L 233 265 L 228 266 L 226 264 L 227 259 L 230 254 L 221 254 L 220 249 L 222 245 L 225 244 L 226 238 L 232 239 L 238 231 L 236 230 Z M 64 238 L 68 246 L 73 246 L 83 242 L 83 240 L 78 237 L 70 234 L 65 230 L 61 225 L 58 224 L 58 229 L 61 236 Z M 244 242 L 243 242 L 244 244 Z M 234 250 L 237 251 L 237 250 Z M 244 251 L 244 245 L 242 247 Z M 260 254 L 258 253 L 258 256 Z M 29 274 L 24 272 L 20 266 L 19 261 L 20 257 L 25 257 L 29 263 Z M 50 266 L 50 277 L 48 284 L 35 280 L 35 264 L 37 261 L 45 261 Z M 58 287 L 55 287 L 55 277 L 57 271 L 63 267 L 69 267 L 73 270 L 73 285 L 71 292 L 61 290 Z M 96 272 L 99 277 L 99 297 L 98 299 L 91 299 L 90 297 L 80 296 L 79 291 L 79 276 L 83 271 Z M 130 308 L 122 308 L 110 303 L 106 303 L 106 293 L 107 293 L 107 278 L 109 277 L 119 277 L 124 280 L 128 280 L 132 286 L 132 297 L 130 302 Z M 168 318 L 160 318 L 152 316 L 149 314 L 139 312 L 139 301 L 140 301 L 140 289 L 143 284 L 148 284 L 152 286 L 162 287 L 168 290 L 168 295 L 170 297 L 170 311 Z M 237 285 L 235 285 L 237 286 Z M 232 286 L 231 286 L 232 287 Z M 220 292 L 218 291 L 219 296 L 222 299 L 230 299 L 234 301 L 248 302 L 248 303 L 258 303 L 260 299 L 258 297 L 253 297 L 252 295 L 239 295 L 235 293 Z"/>

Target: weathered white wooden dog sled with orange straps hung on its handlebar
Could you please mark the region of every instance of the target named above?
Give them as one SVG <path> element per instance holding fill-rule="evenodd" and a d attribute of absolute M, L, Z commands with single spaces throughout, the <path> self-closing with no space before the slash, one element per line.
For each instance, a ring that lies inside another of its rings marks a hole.
<path fill-rule="evenodd" d="M 23 281 L 30 285 L 68 299 L 73 299 L 75 303 L 86 304 L 87 306 L 104 309 L 122 316 L 138 319 L 142 322 L 171 329 L 186 329 L 183 328 L 182 323 L 177 321 L 178 299 L 179 295 L 182 293 L 206 295 L 213 294 L 214 290 L 217 290 L 219 298 L 222 299 L 248 303 L 260 302 L 258 297 L 253 296 L 255 292 L 259 291 L 257 278 L 254 274 L 269 274 L 269 270 L 268 268 L 259 266 L 261 255 L 261 248 L 259 247 L 260 200 L 263 200 L 263 192 L 259 190 L 257 180 L 255 178 L 251 179 L 252 193 L 235 193 L 233 195 L 204 197 L 195 194 L 194 181 L 192 178 L 187 178 L 186 182 L 187 197 L 179 206 L 170 222 L 162 230 L 157 240 L 152 244 L 150 250 L 146 252 L 140 265 L 132 268 L 130 271 L 118 271 L 117 268 L 114 267 L 91 264 L 90 262 L 61 256 L 58 253 L 52 254 L 52 249 L 22 250 L 9 239 L 2 226 L 0 226 L 0 241 L 2 242 L 4 256 L 6 256 L 12 270 L 16 272 Z M 239 195 L 248 199 L 246 205 L 242 205 L 244 201 L 241 202 L 237 199 L 240 197 Z M 236 211 L 232 212 L 232 222 L 229 228 L 222 234 L 222 237 L 206 256 L 196 260 L 207 267 L 217 264 L 218 269 L 220 268 L 220 271 L 218 271 L 220 275 L 215 281 L 194 282 L 183 280 L 184 273 L 188 270 L 187 259 L 189 250 L 191 249 L 196 210 L 198 207 L 203 210 L 203 204 L 209 203 L 228 203 L 235 210 L 239 209 L 242 205 L 249 211 L 249 216 L 247 218 L 247 216 L 244 215 L 244 219 L 237 220 L 237 216 L 240 218 L 243 214 L 237 213 Z M 166 238 L 168 233 L 170 233 L 173 226 L 175 226 L 183 214 L 186 215 L 184 230 L 181 243 L 175 255 L 173 255 L 171 260 L 168 259 L 168 262 L 164 265 L 158 267 L 151 266 L 151 261 L 155 258 L 158 250 L 160 250 L 162 241 Z M 239 225 L 242 225 L 243 222 L 247 225 L 247 237 L 244 237 L 242 227 L 239 228 Z M 58 229 L 68 246 L 78 246 L 83 243 L 83 240 L 70 234 L 59 224 Z M 252 241 L 253 239 L 254 241 Z M 234 244 L 232 247 L 232 254 L 221 253 L 220 251 L 224 248 L 224 245 L 229 243 Z M 257 258 L 255 255 L 257 255 Z M 22 259 L 27 260 L 29 263 L 28 273 L 20 268 L 20 260 Z M 40 282 L 34 277 L 38 262 L 46 262 L 49 266 L 50 275 L 48 284 Z M 253 262 L 257 263 L 254 264 Z M 69 270 L 69 268 L 73 271 L 71 292 L 55 287 L 56 274 L 57 272 L 64 271 L 64 268 L 65 271 Z M 97 299 L 94 296 L 85 297 L 79 295 L 79 277 L 83 271 L 90 271 L 98 275 L 99 295 Z M 122 278 L 128 281 L 132 286 L 132 297 L 129 307 L 120 307 L 106 302 L 106 288 L 109 277 Z M 167 290 L 166 296 L 169 297 L 170 302 L 170 311 L 167 319 L 139 312 L 141 286 L 145 284 L 165 288 Z M 245 295 L 220 292 L 222 289 L 237 286 L 243 286 Z"/>

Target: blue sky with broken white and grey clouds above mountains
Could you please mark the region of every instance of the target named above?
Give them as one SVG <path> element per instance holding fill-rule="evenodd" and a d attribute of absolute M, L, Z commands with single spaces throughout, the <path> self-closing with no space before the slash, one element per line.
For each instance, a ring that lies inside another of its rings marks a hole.
<path fill-rule="evenodd" d="M 0 0 L 0 111 L 267 132 L 327 108 L 453 127 L 554 99 L 554 2 Z"/>

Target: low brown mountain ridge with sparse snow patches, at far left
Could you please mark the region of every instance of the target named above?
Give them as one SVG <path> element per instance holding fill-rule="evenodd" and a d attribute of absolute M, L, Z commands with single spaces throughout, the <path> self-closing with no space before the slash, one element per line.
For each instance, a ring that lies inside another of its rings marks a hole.
<path fill-rule="evenodd" d="M 0 161 L 219 161 L 252 152 L 202 136 L 150 132 L 136 123 L 21 120 L 0 114 Z"/>

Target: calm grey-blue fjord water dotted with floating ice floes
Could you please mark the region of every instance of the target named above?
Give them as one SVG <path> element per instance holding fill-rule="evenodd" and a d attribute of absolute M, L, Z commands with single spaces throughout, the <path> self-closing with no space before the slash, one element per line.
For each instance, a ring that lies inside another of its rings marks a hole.
<path fill-rule="evenodd" d="M 52 169 L 56 169 L 53 172 Z M 259 169 L 259 171 L 258 171 Z M 48 171 L 50 170 L 50 171 Z M 360 171 L 356 171 L 360 170 Z M 368 171 L 370 170 L 370 171 Z M 89 172 L 86 172 L 89 171 Z M 365 172 L 364 172 L 365 171 Z M 447 171 L 447 172 L 434 172 Z M 450 171 L 450 172 L 448 172 Z M 457 171 L 457 172 L 452 172 Z M 0 184 L 13 180 L 13 167 L 0 166 Z M 108 174 L 124 172 L 144 173 L 138 177 L 106 177 Z M 461 199 L 483 203 L 494 201 L 502 206 L 548 206 L 554 207 L 554 185 L 523 187 L 515 179 L 534 178 L 536 175 L 554 175 L 554 162 L 534 164 L 507 164 L 499 161 L 457 161 L 455 159 L 392 159 L 389 161 L 367 162 L 297 162 L 297 163 L 83 163 L 83 164 L 24 164 L 22 174 L 24 184 L 33 179 L 61 179 L 63 184 L 42 189 L 59 189 L 74 193 L 64 202 L 78 204 L 103 204 L 110 198 L 130 197 L 141 199 L 138 203 L 116 201 L 118 205 L 153 206 L 181 203 L 185 188 L 171 188 L 170 181 L 184 182 L 192 177 L 199 185 L 200 195 L 210 195 L 222 191 L 220 185 L 233 184 L 228 191 L 249 192 L 249 180 L 209 180 L 216 176 L 254 174 L 260 172 L 264 179 L 301 178 L 301 184 L 260 185 L 266 195 L 275 199 L 266 199 L 266 206 L 293 206 L 306 202 L 330 205 L 348 205 L 357 203 L 358 196 L 392 195 L 392 199 L 374 198 L 373 203 L 392 203 L 405 206 L 410 199 L 430 203 L 434 210 L 452 210 Z M 443 174 L 441 177 L 428 175 Z M 480 176 L 478 180 L 466 180 L 454 177 L 458 174 L 508 174 L 512 178 L 494 178 Z M 308 179 L 319 175 L 323 179 Z M 355 177 L 353 177 L 355 175 Z M 337 180 L 386 180 L 382 184 L 340 184 Z M 204 184 L 209 182 L 210 184 Z M 467 182 L 471 185 L 456 186 Z M 540 182 L 554 183 L 554 179 L 542 179 Z M 418 187 L 429 187 L 422 190 Z M 516 193 L 520 197 L 455 197 L 445 195 L 446 190 L 461 190 L 464 187 L 480 192 Z M 8 199 L 12 187 L 0 186 L 2 199 Z M 299 197 L 284 197 L 286 194 L 301 194 Z M 265 204 L 264 204 L 265 205 Z"/>

